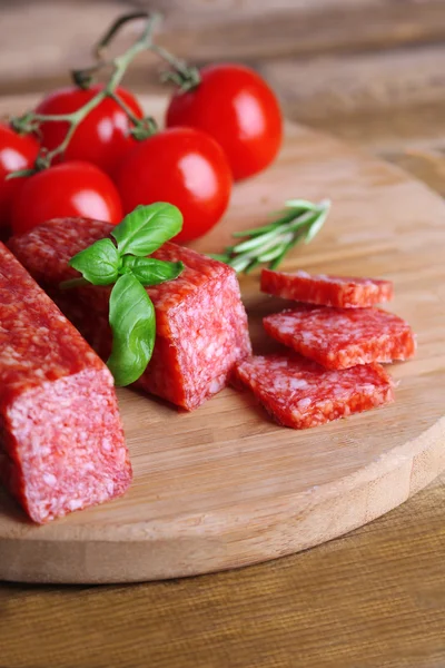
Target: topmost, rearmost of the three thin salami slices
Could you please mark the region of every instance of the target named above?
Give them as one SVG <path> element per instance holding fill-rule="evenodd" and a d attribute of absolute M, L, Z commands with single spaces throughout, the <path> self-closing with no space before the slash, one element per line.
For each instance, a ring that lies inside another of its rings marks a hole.
<path fill-rule="evenodd" d="M 261 291 L 269 295 L 339 308 L 368 307 L 393 298 L 390 281 L 352 276 L 312 276 L 306 272 L 261 271 Z"/>

